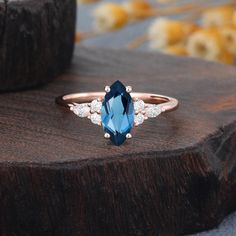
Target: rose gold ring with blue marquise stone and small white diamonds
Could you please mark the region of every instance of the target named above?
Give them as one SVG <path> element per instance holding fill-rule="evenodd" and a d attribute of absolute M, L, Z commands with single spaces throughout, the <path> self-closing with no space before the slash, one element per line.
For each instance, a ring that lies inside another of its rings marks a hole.
<path fill-rule="evenodd" d="M 56 103 L 67 107 L 81 118 L 102 125 L 104 137 L 117 146 L 132 138 L 131 130 L 148 118 L 178 107 L 178 100 L 158 94 L 133 93 L 131 86 L 116 81 L 105 87 L 105 92 L 73 93 L 56 98 Z"/>

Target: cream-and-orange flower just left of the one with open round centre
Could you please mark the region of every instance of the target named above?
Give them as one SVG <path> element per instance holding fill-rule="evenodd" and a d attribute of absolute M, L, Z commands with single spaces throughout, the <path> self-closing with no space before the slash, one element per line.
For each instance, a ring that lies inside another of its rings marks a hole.
<path fill-rule="evenodd" d="M 150 47 L 155 49 L 166 48 L 185 40 L 196 29 L 192 23 L 158 18 L 148 30 Z"/>

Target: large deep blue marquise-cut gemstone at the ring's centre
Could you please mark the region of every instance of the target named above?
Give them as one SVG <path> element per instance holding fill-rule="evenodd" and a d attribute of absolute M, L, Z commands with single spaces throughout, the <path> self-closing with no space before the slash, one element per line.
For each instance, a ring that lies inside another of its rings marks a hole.
<path fill-rule="evenodd" d="M 116 81 L 106 94 L 101 110 L 102 125 L 111 141 L 119 146 L 134 125 L 134 103 L 125 86 Z"/>

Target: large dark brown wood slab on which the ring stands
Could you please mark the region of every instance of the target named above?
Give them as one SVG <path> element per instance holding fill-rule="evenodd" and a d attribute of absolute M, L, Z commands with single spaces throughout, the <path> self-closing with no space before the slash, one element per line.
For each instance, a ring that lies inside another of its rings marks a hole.
<path fill-rule="evenodd" d="M 115 80 L 179 99 L 117 147 L 58 107 Z M 0 96 L 0 235 L 181 235 L 236 209 L 236 69 L 77 48 L 70 70 Z"/>

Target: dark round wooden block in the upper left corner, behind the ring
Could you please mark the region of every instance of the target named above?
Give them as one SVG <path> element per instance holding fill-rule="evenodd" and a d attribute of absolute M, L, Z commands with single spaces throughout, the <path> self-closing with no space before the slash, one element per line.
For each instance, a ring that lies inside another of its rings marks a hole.
<path fill-rule="evenodd" d="M 71 62 L 75 0 L 0 1 L 0 91 L 44 84 Z"/>

